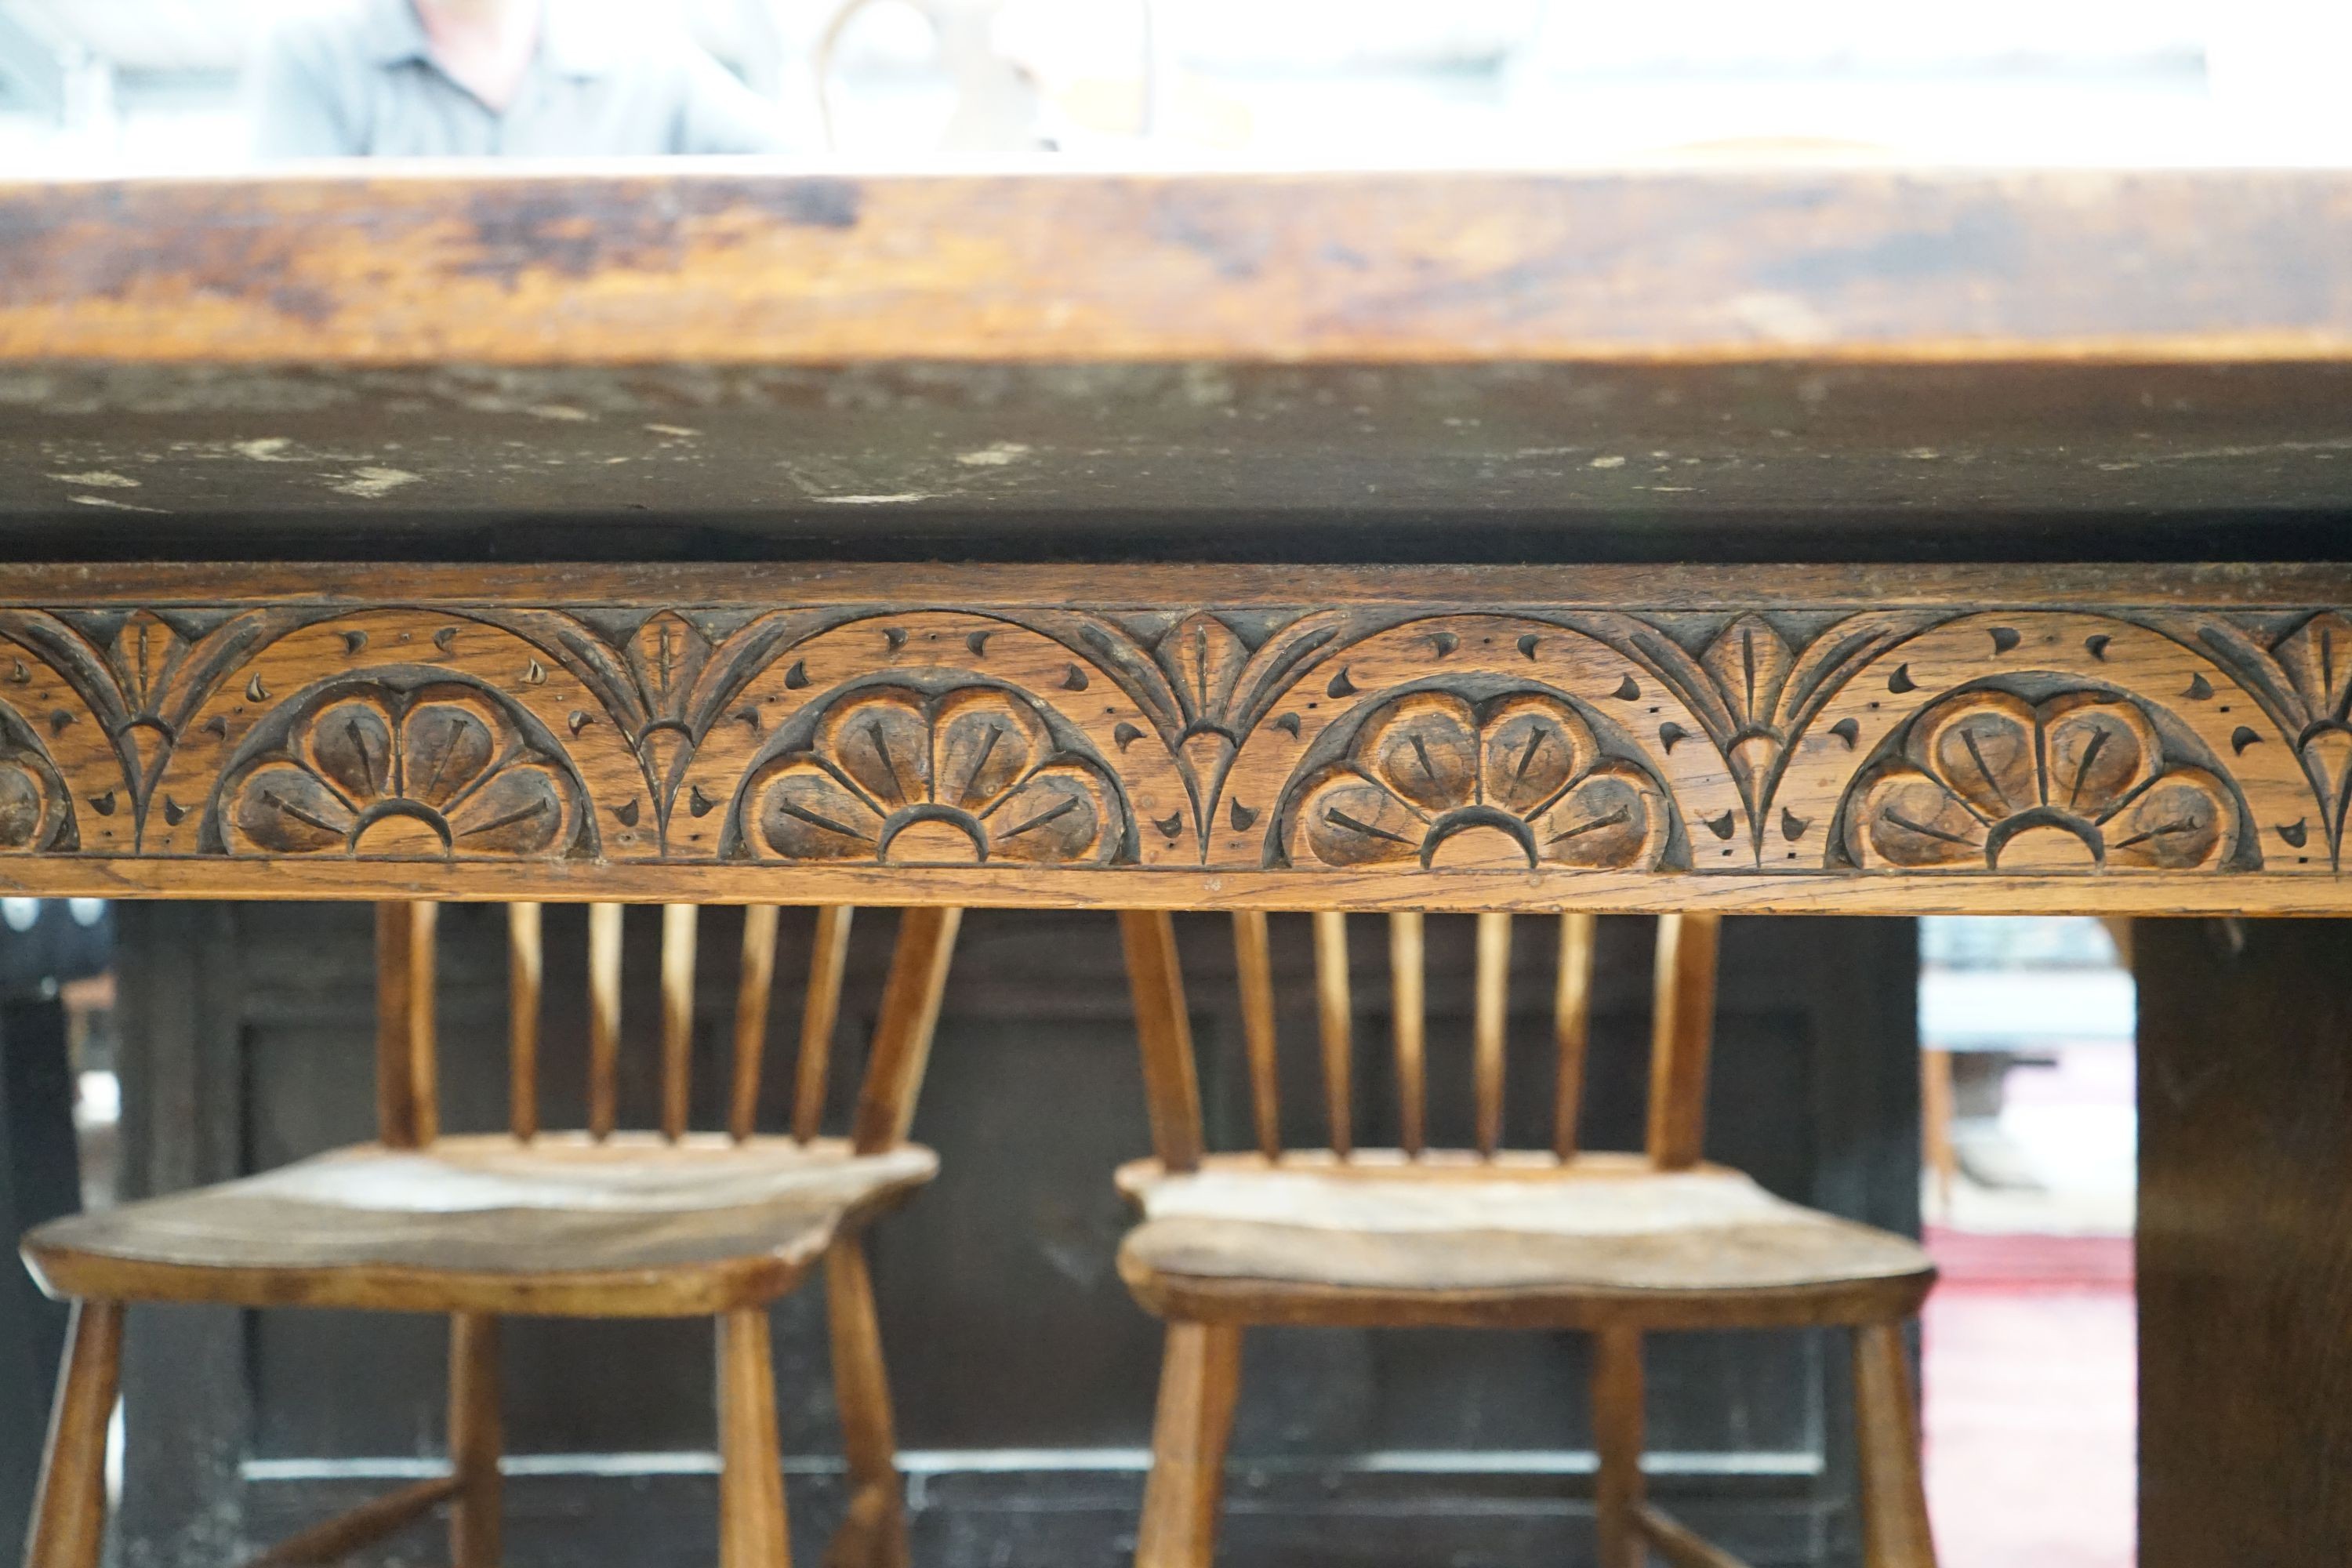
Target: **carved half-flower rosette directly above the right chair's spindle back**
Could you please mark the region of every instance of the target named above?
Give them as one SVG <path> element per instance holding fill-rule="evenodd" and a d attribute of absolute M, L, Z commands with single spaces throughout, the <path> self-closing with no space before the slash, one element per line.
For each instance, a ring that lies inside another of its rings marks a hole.
<path fill-rule="evenodd" d="M 1672 820 L 1658 783 L 1548 691 L 1397 696 L 1291 802 L 1294 865 L 1649 870 Z"/>

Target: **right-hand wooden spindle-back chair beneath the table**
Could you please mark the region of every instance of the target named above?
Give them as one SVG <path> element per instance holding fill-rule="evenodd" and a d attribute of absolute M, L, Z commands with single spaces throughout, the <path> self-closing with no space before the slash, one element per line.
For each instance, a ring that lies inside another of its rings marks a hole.
<path fill-rule="evenodd" d="M 1268 917 L 1235 914 L 1256 1150 L 1202 1147 L 1176 931 L 1122 914 L 1157 1159 L 1120 1171 L 1143 1222 L 1120 1274 L 1167 1319 L 1138 1568 L 1204 1568 L 1216 1542 L 1242 1328 L 1254 1324 L 1573 1328 L 1592 1335 L 1604 1568 L 1656 1552 L 1736 1568 L 1644 1500 L 1642 1335 L 1677 1328 L 1842 1326 L 1853 1333 L 1860 1512 L 1870 1568 L 1931 1568 L 1903 1324 L 1933 1267 L 1912 1241 L 1769 1197 L 1700 1161 L 1717 917 L 1658 929 L 1649 1147 L 1578 1147 L 1590 914 L 1559 922 L 1552 1145 L 1503 1150 L 1510 914 L 1477 917 L 1470 1037 L 1475 1147 L 1428 1143 L 1423 917 L 1388 926 L 1399 1145 L 1355 1147 L 1348 926 L 1315 914 L 1327 1150 L 1282 1147 Z"/>

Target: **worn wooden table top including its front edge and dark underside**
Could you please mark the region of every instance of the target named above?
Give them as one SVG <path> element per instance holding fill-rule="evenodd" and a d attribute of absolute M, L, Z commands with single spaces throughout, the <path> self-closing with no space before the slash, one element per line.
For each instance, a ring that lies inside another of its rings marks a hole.
<path fill-rule="evenodd" d="M 2333 172 L 358 167 L 0 252 L 47 557 L 2314 557 L 2352 473 Z"/>

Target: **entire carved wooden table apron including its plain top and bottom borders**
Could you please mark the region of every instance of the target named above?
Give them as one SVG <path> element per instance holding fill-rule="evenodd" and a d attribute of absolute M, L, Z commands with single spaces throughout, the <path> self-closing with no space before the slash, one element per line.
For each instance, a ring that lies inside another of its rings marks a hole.
<path fill-rule="evenodd" d="M 2343 604 L 2331 567 L 16 567 L 0 882 L 2347 912 Z"/>

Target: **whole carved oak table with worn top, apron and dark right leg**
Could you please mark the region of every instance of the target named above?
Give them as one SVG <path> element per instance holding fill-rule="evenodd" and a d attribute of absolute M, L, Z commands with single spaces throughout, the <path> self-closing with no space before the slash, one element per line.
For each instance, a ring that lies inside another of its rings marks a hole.
<path fill-rule="evenodd" d="M 0 891 L 2133 917 L 2147 1568 L 2352 1554 L 2347 802 L 2345 174 L 0 183 Z"/>

